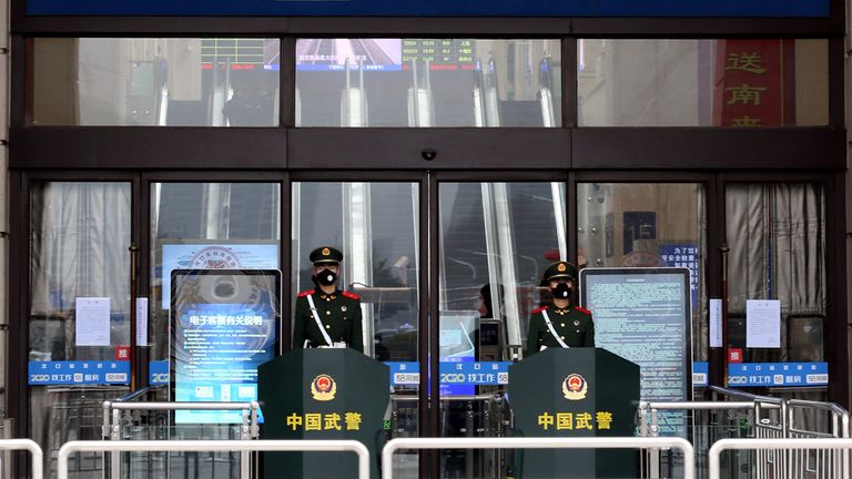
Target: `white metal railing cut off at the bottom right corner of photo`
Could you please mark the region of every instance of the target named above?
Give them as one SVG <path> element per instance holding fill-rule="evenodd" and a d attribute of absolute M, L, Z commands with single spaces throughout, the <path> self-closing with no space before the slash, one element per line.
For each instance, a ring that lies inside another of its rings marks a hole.
<path fill-rule="evenodd" d="M 836 451 L 843 456 L 848 456 L 852 449 L 852 439 L 721 439 L 713 444 L 709 453 L 709 472 L 710 479 L 721 478 L 721 453 L 726 450 L 771 450 L 779 452 L 779 457 L 787 457 L 788 453 L 780 453 L 781 451 L 789 452 L 790 456 L 795 458 L 785 462 L 787 469 L 780 470 L 774 478 L 809 478 L 809 479 L 824 479 L 824 478 L 849 478 L 850 470 L 849 463 L 839 461 L 833 462 L 831 469 L 809 469 L 808 460 L 803 459 L 810 455 L 805 455 L 805 451 Z M 803 460 L 805 469 L 799 469 L 798 465 L 800 460 Z"/>

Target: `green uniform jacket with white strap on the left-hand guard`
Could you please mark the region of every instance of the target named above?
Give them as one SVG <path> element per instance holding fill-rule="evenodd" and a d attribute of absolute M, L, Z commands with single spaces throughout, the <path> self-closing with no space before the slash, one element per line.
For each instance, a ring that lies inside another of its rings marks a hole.
<path fill-rule="evenodd" d="M 325 294 L 310 289 L 296 297 L 296 314 L 293 318 L 293 348 L 327 346 L 316 325 L 307 297 L 314 299 L 320 320 L 332 342 L 344 342 L 353 349 L 364 353 L 361 325 L 361 297 L 354 293 L 335 291 Z"/>

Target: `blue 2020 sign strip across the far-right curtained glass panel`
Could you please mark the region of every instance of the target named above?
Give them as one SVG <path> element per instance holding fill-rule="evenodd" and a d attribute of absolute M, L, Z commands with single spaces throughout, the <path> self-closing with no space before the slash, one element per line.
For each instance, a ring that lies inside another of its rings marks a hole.
<path fill-rule="evenodd" d="M 728 365 L 731 387 L 828 386 L 828 363 L 741 363 Z"/>

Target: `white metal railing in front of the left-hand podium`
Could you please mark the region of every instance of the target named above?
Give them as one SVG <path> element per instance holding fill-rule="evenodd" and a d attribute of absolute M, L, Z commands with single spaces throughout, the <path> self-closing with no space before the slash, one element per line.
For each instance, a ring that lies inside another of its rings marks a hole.
<path fill-rule="evenodd" d="M 351 451 L 358 456 L 358 479 L 369 479 L 369 451 L 356 440 L 153 440 L 153 441 L 70 441 L 59 448 L 57 465 L 58 479 L 68 479 L 68 458 L 73 452 L 126 452 L 126 451 L 182 451 L 182 452 L 231 452 L 231 451 Z M 36 478 L 40 479 L 40 478 Z"/>

